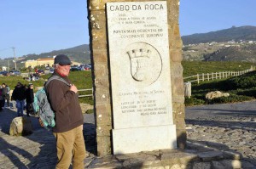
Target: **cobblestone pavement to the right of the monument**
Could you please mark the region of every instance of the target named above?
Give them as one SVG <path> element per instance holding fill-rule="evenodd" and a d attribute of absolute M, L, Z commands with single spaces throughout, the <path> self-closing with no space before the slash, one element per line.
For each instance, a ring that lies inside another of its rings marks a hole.
<path fill-rule="evenodd" d="M 188 140 L 241 153 L 256 166 L 256 101 L 186 109 Z"/>

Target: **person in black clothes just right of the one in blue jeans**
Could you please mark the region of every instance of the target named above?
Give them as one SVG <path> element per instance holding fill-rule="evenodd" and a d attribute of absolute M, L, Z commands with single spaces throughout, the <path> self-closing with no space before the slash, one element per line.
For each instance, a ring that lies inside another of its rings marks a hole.
<path fill-rule="evenodd" d="M 33 113 L 32 103 L 34 102 L 34 91 L 33 84 L 29 83 L 25 95 L 26 95 L 26 116 L 30 116 L 29 114 Z"/>

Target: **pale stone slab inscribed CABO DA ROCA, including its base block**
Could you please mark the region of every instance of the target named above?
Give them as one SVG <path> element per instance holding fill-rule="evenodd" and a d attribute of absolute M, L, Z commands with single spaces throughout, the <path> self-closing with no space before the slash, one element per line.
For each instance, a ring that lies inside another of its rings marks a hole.
<path fill-rule="evenodd" d="M 107 18 L 113 153 L 175 148 L 166 2 L 107 3 Z"/>

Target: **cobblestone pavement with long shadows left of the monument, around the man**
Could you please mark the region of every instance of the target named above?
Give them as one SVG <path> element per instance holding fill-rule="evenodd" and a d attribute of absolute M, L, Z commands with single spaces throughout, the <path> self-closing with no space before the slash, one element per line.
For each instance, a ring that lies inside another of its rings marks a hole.
<path fill-rule="evenodd" d="M 26 116 L 26 114 L 24 115 Z M 94 122 L 93 115 L 84 115 L 84 119 Z M 15 110 L 3 109 L 0 112 L 0 169 L 9 168 L 55 168 L 57 160 L 55 138 L 52 132 L 40 127 L 38 119 L 32 120 L 33 132 L 29 136 L 9 136 L 9 126 L 16 117 Z M 84 160 L 90 161 L 96 154 L 96 138 L 94 124 L 84 123 L 84 139 L 86 150 L 90 155 Z"/>

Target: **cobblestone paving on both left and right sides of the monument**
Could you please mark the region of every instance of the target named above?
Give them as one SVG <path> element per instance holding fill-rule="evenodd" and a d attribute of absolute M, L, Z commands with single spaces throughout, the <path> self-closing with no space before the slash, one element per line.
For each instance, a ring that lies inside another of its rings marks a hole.
<path fill-rule="evenodd" d="M 189 144 L 201 144 L 234 150 L 256 168 L 256 101 L 238 104 L 202 105 L 186 108 Z M 55 167 L 55 138 L 31 116 L 33 133 L 26 137 L 9 136 L 9 124 L 15 110 L 0 112 L 0 169 Z M 84 139 L 89 153 L 84 162 L 96 159 L 96 135 L 93 115 L 84 115 Z"/>

